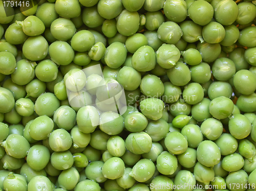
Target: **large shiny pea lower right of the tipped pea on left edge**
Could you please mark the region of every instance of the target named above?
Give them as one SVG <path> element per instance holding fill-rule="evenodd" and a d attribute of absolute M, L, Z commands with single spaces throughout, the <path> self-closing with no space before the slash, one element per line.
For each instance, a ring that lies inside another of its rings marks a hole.
<path fill-rule="evenodd" d="M 34 145 L 29 149 L 27 163 L 31 169 L 41 171 L 50 161 L 49 150 L 42 145 Z"/>

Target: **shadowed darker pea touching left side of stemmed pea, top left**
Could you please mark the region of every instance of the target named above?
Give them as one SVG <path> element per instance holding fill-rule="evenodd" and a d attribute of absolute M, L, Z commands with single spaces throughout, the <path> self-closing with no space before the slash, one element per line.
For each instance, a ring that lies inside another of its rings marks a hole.
<path fill-rule="evenodd" d="M 22 26 L 12 23 L 5 32 L 5 39 L 11 44 L 22 44 L 26 41 L 27 35 L 23 32 Z"/>

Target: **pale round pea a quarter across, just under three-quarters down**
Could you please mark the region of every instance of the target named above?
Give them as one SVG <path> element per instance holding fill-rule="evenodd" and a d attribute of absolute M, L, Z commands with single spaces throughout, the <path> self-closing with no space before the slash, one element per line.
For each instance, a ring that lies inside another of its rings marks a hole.
<path fill-rule="evenodd" d="M 72 138 L 65 129 L 56 129 L 49 136 L 49 145 L 55 152 L 67 151 L 72 146 Z"/>

